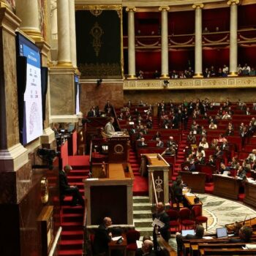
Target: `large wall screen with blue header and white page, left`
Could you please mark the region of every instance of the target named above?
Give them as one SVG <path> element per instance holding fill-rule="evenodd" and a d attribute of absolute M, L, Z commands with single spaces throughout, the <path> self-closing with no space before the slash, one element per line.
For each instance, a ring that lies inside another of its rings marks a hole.
<path fill-rule="evenodd" d="M 39 48 L 17 34 L 18 56 L 26 57 L 26 90 L 23 95 L 22 143 L 27 144 L 42 135 L 41 56 Z M 19 86 L 19 81 L 18 81 Z"/>

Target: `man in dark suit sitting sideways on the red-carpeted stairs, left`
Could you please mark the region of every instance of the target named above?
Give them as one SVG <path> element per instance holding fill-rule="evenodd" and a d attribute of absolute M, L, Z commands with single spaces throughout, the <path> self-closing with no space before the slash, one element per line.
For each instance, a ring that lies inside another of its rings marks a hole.
<path fill-rule="evenodd" d="M 84 200 L 82 195 L 79 192 L 78 187 L 69 186 L 67 182 L 67 173 L 69 170 L 72 170 L 70 165 L 65 165 L 64 170 L 59 171 L 59 188 L 61 197 L 64 195 L 72 195 L 71 206 L 77 206 L 78 203 L 81 206 L 84 206 Z"/>

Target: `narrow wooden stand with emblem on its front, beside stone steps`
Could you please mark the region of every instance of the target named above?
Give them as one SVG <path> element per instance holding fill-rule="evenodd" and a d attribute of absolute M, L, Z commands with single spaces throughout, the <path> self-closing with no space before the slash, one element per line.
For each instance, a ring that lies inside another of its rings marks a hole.
<path fill-rule="evenodd" d="M 165 204 L 169 203 L 169 168 L 170 165 L 159 154 L 145 154 L 148 159 L 148 195 L 151 203 L 155 202 L 151 173 L 153 173 L 157 200 Z"/>

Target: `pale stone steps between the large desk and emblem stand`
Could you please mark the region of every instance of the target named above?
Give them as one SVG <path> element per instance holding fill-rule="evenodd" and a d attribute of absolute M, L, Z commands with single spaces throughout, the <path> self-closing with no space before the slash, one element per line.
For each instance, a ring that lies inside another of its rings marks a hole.
<path fill-rule="evenodd" d="M 149 197 L 133 197 L 133 222 L 135 230 L 140 231 L 140 236 L 152 236 L 153 227 L 151 226 L 151 206 L 151 203 L 149 203 Z"/>

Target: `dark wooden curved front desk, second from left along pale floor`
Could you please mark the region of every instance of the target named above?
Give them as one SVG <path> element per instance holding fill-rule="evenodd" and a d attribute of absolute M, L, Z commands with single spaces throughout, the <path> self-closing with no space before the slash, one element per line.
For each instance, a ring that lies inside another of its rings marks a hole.
<path fill-rule="evenodd" d="M 238 189 L 241 180 L 229 176 L 214 174 L 214 195 L 230 199 L 238 199 Z"/>

